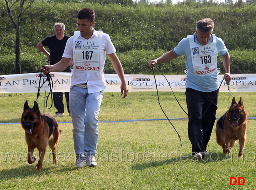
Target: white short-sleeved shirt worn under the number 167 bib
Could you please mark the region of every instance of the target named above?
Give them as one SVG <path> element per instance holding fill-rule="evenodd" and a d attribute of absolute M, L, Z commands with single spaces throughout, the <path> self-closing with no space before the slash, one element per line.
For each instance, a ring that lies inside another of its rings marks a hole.
<path fill-rule="evenodd" d="M 116 49 L 113 43 L 111 42 L 109 35 L 106 33 L 101 33 L 101 34 L 102 34 L 102 47 L 100 50 L 100 54 L 101 54 L 100 60 L 101 60 L 101 66 L 104 68 L 106 54 L 112 54 L 116 52 Z M 98 36 L 98 34 L 97 34 L 97 31 L 93 29 L 93 34 L 90 39 L 94 38 L 94 36 Z M 74 49 L 73 38 L 74 36 L 71 36 L 68 39 L 62 57 L 73 58 L 73 49 Z M 81 33 L 80 33 L 80 36 L 78 36 L 78 38 L 84 39 L 81 36 Z M 76 84 L 84 84 L 84 83 L 87 83 L 89 94 L 94 92 L 99 92 L 101 90 L 105 90 L 106 80 L 104 78 L 103 69 L 100 70 L 99 72 L 94 72 L 94 73 L 85 73 L 85 72 L 79 72 L 74 70 L 71 76 L 71 87 Z"/>

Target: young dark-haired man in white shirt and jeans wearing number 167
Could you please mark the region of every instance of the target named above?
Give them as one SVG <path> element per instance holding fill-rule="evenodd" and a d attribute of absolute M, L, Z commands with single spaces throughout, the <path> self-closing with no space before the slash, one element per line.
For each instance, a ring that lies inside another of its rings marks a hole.
<path fill-rule="evenodd" d="M 121 94 L 125 98 L 128 86 L 116 49 L 108 34 L 94 30 L 95 12 L 83 8 L 77 14 L 79 32 L 68 39 L 62 60 L 52 66 L 45 66 L 49 72 L 61 72 L 74 60 L 71 76 L 69 107 L 73 123 L 76 167 L 96 166 L 95 154 L 98 144 L 98 114 L 106 89 L 104 64 L 106 54 L 121 80 Z M 48 71 L 41 68 L 44 74 Z"/>

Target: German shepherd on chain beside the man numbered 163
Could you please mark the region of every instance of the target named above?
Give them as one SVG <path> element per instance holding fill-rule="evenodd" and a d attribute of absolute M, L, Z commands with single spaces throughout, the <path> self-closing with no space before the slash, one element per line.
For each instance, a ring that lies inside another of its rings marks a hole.
<path fill-rule="evenodd" d="M 216 124 L 216 141 L 222 146 L 223 153 L 228 154 L 236 142 L 239 140 L 239 157 L 244 154 L 244 144 L 246 139 L 247 112 L 244 109 L 242 97 L 236 103 L 235 97 L 229 110 L 221 116 Z"/>

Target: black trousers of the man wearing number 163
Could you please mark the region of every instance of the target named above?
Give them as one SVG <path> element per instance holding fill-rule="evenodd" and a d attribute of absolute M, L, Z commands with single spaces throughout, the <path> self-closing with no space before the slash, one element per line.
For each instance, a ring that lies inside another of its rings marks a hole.
<path fill-rule="evenodd" d="M 188 138 L 192 144 L 192 152 L 204 152 L 216 120 L 218 90 L 200 92 L 186 88 L 186 102 L 189 116 Z"/>

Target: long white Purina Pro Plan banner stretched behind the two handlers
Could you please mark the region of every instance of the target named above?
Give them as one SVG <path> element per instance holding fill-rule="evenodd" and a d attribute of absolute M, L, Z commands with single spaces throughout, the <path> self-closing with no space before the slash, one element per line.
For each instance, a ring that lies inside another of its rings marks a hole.
<path fill-rule="evenodd" d="M 52 92 L 69 92 L 70 89 L 70 73 L 51 72 L 53 80 Z M 121 81 L 117 74 L 104 74 L 107 88 L 105 92 L 120 92 Z M 171 91 L 170 86 L 174 92 L 185 92 L 186 77 L 183 75 L 157 75 L 156 82 L 153 75 L 125 75 L 130 92 L 142 91 Z M 256 92 L 256 74 L 234 74 L 231 75 L 230 82 L 231 92 Z M 218 76 L 219 85 L 223 80 L 223 75 Z M 46 76 L 40 73 L 30 74 L 13 74 L 0 76 L 0 93 L 28 93 L 37 92 L 39 82 L 42 85 L 46 81 Z M 169 86 L 170 84 L 170 86 Z M 49 92 L 48 83 L 42 86 L 40 92 Z M 225 80 L 222 82 L 220 92 L 228 92 L 228 86 Z"/>

